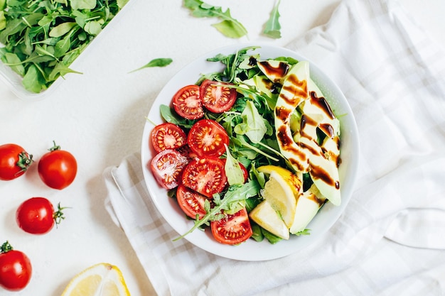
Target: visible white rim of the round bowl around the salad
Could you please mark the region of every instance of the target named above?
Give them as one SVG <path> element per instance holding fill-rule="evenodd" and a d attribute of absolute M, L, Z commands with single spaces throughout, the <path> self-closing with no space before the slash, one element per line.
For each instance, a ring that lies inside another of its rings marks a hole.
<path fill-rule="evenodd" d="M 235 53 L 236 50 L 247 46 L 251 45 L 231 45 L 225 48 L 220 48 L 198 58 L 184 67 L 165 85 L 165 87 L 163 87 L 149 111 L 148 119 L 154 124 L 161 124 L 163 120 L 161 119 L 159 106 L 161 104 L 170 104 L 173 94 L 175 94 L 178 89 L 186 84 L 194 84 L 200 77 L 201 73 L 223 70 L 223 65 L 220 62 L 206 61 L 208 57 L 214 57 L 218 53 L 229 55 Z M 294 57 L 297 60 L 307 60 L 291 50 L 270 45 L 259 46 L 261 46 L 261 48 L 250 51 L 250 53 L 259 53 L 261 60 L 280 56 Z M 355 172 L 358 169 L 359 145 L 357 126 L 350 106 L 336 84 L 324 75 L 318 67 L 313 65 L 313 63 L 311 63 L 310 70 L 311 78 L 316 82 L 318 87 L 320 87 L 326 99 L 328 99 L 334 113 L 345 114 L 340 117 L 342 141 L 342 163 L 339 168 L 342 197 L 341 205 L 335 207 L 331 203 L 325 204 L 309 224 L 308 228 L 311 229 L 311 235 L 309 236 L 291 236 L 289 241 L 280 241 L 274 245 L 269 243 L 266 239 L 260 243 L 250 239 L 239 246 L 227 246 L 216 242 L 212 237 L 211 231 L 203 232 L 197 230 L 188 234 L 185 238 L 195 246 L 218 256 L 241 261 L 265 261 L 281 258 L 301 250 L 301 248 L 308 246 L 310 243 L 313 243 L 323 236 L 323 234 L 337 221 L 338 217 L 345 209 L 353 192 Z M 179 209 L 176 201 L 167 196 L 166 190 L 156 183 L 153 175 L 151 175 L 149 167 L 147 167 L 147 164 L 150 163 L 151 158 L 155 155 L 153 148 L 150 147 L 151 145 L 149 146 L 149 137 L 153 127 L 153 124 L 147 122 L 142 136 L 141 164 L 146 185 L 149 189 L 151 199 L 153 199 L 154 204 L 156 204 L 157 209 L 161 212 L 168 224 L 170 224 L 178 234 L 184 234 L 191 229 L 193 221 L 185 218 L 185 215 L 181 212 L 181 209 Z"/>

